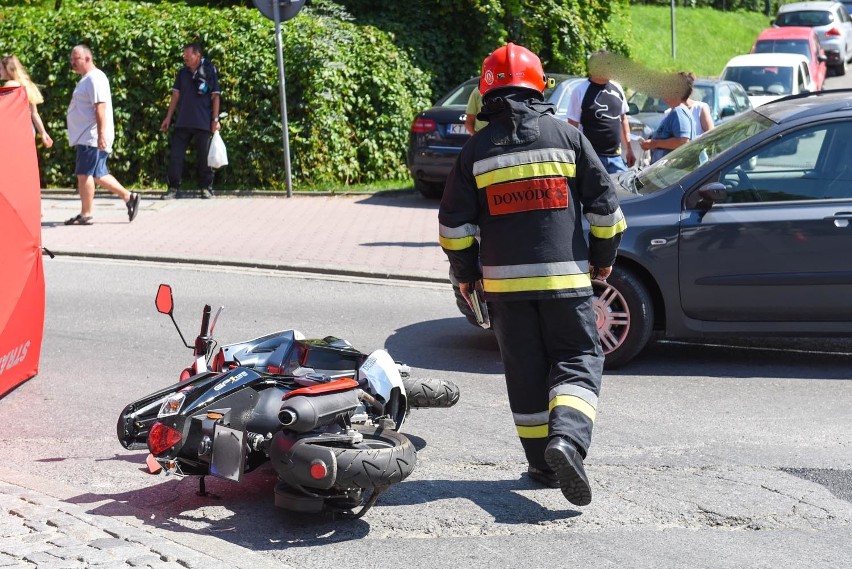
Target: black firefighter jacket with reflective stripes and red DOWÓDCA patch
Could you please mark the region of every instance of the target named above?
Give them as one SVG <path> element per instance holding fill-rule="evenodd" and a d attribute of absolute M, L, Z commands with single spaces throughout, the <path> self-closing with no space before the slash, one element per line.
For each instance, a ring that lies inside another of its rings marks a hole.
<path fill-rule="evenodd" d="M 591 295 L 589 264 L 611 266 L 627 227 L 589 141 L 531 94 L 489 97 L 489 124 L 462 148 L 438 213 L 453 275 L 482 278 L 489 301 Z"/>

